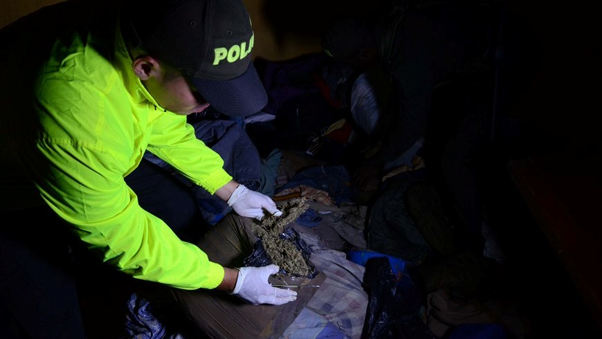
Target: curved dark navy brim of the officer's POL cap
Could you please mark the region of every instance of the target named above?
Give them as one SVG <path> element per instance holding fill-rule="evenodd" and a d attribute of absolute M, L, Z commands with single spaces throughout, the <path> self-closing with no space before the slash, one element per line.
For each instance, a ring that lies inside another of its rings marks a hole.
<path fill-rule="evenodd" d="M 268 95 L 253 62 L 247 70 L 230 80 L 193 77 L 192 83 L 209 104 L 226 116 L 250 116 L 266 107 Z"/>

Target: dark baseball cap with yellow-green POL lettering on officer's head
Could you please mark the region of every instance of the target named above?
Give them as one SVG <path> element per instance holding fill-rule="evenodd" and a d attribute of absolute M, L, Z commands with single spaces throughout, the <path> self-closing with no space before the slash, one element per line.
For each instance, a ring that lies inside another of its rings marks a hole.
<path fill-rule="evenodd" d="M 122 25 L 133 44 L 190 78 L 209 104 L 249 116 L 268 102 L 251 62 L 254 35 L 241 0 L 128 1 Z"/>

